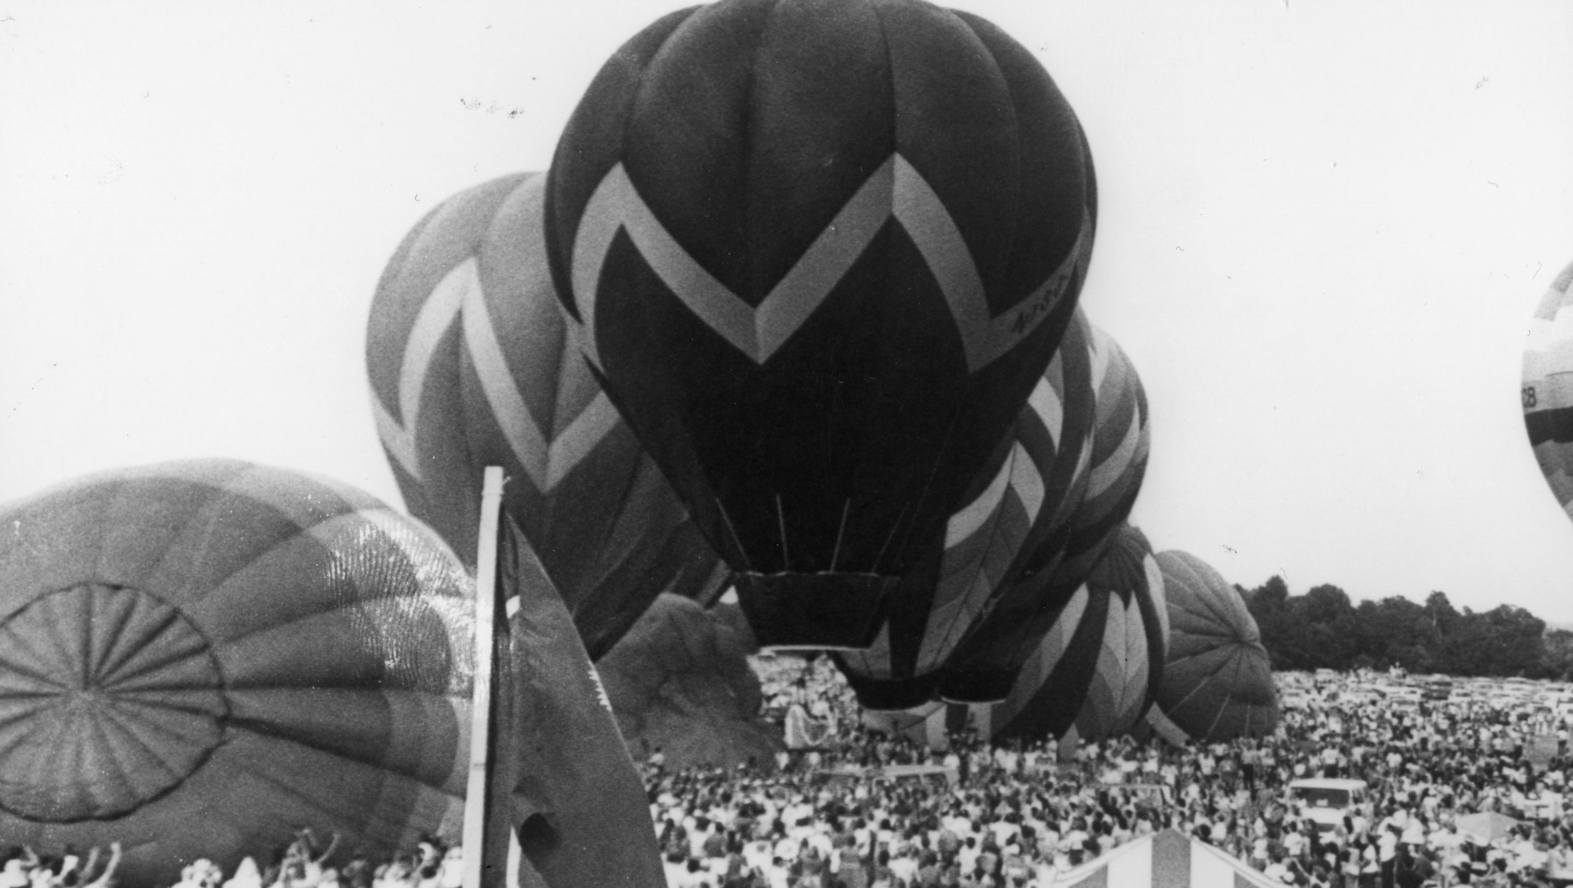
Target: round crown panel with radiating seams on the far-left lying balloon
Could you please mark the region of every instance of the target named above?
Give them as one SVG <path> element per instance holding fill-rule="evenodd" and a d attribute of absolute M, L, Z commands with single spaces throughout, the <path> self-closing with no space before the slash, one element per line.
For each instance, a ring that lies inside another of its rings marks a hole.
<path fill-rule="evenodd" d="M 173 790 L 228 716 L 208 638 L 126 586 L 80 583 L 6 616 L 0 674 L 0 710 L 25 737 L 6 756 L 0 808 L 46 823 L 116 817 Z"/>

